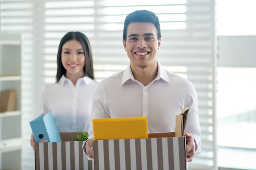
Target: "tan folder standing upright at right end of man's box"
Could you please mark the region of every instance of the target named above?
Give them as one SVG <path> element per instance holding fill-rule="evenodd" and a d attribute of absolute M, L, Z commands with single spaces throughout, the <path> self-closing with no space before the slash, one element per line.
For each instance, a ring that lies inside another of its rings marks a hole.
<path fill-rule="evenodd" d="M 184 108 L 179 115 L 176 115 L 176 125 L 175 125 L 176 137 L 184 136 L 188 113 L 189 113 L 189 108 Z"/>

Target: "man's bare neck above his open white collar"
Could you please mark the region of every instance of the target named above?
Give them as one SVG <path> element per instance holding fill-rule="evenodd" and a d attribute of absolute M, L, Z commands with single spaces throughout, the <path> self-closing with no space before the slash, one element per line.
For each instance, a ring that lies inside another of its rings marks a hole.
<path fill-rule="evenodd" d="M 134 79 L 136 79 L 144 86 L 147 86 L 157 77 L 157 62 L 154 62 L 147 67 L 138 67 L 135 65 L 131 65 L 131 71 Z"/>

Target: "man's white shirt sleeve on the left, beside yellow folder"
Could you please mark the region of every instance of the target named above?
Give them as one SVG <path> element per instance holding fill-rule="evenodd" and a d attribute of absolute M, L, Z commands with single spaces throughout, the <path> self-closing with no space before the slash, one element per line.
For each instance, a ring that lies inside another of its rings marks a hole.
<path fill-rule="evenodd" d="M 92 115 L 91 115 L 91 123 L 90 128 L 88 130 L 88 139 L 93 138 L 93 119 L 104 119 L 104 118 L 111 118 L 108 109 L 105 107 L 105 91 L 104 87 L 101 83 L 99 83 L 98 87 L 96 88 L 94 95 L 93 95 L 93 102 L 92 102 Z M 87 141 L 86 141 L 87 142 Z M 85 144 L 83 145 L 84 153 L 86 153 Z M 91 160 L 88 156 L 87 158 Z"/>

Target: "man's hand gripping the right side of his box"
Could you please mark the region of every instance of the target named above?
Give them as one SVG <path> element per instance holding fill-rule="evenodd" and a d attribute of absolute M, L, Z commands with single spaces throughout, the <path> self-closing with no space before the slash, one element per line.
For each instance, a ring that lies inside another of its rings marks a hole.
<path fill-rule="evenodd" d="M 195 141 L 190 131 L 185 133 L 186 136 L 186 155 L 187 162 L 191 162 L 193 160 L 193 156 L 195 154 Z"/>

